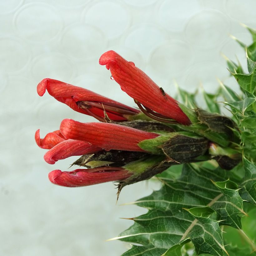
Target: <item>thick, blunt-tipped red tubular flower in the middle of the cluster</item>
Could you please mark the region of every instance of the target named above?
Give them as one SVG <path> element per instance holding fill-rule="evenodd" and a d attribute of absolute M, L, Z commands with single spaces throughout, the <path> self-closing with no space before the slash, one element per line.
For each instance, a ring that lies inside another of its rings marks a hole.
<path fill-rule="evenodd" d="M 153 139 L 159 134 L 138 130 L 112 123 L 80 123 L 64 119 L 61 133 L 73 140 L 83 140 L 105 150 L 142 151 L 137 144 L 142 140 Z"/>

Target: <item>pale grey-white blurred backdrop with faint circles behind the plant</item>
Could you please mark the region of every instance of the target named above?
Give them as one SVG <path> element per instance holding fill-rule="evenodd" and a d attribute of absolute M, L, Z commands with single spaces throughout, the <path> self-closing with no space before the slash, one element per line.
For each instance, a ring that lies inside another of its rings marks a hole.
<path fill-rule="evenodd" d="M 73 112 L 36 86 L 45 77 L 93 90 L 134 106 L 110 72 L 98 64 L 115 50 L 174 96 L 174 81 L 207 92 L 216 78 L 235 90 L 221 53 L 245 64 L 244 51 L 229 35 L 249 44 L 240 22 L 256 28 L 255 0 L 0 0 L 0 200 L 1 255 L 117 256 L 129 245 L 116 237 L 146 210 L 133 202 L 158 189 L 157 181 L 126 187 L 116 205 L 112 183 L 82 188 L 52 185 L 51 170 L 66 170 L 76 159 L 48 165 L 41 136 L 64 118 L 95 121 Z M 245 65 L 244 65 L 245 66 Z"/>

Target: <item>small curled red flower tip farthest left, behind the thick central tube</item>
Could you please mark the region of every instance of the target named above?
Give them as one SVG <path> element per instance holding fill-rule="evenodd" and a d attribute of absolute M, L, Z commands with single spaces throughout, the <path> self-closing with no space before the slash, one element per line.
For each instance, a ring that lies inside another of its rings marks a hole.
<path fill-rule="evenodd" d="M 40 148 L 51 149 L 55 145 L 57 145 L 60 142 L 65 140 L 65 138 L 61 134 L 60 130 L 56 130 L 56 131 L 47 133 L 47 135 L 43 139 L 40 139 L 39 131 L 40 131 L 40 129 L 38 129 L 35 133 L 35 140 L 36 140 L 37 145 Z"/>

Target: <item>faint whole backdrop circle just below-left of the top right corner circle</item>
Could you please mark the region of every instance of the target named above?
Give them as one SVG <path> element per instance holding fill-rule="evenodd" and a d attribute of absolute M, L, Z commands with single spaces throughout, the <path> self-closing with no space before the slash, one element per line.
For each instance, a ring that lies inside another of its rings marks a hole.
<path fill-rule="evenodd" d="M 188 41 L 204 49 L 219 46 L 228 38 L 228 33 L 229 21 L 221 12 L 214 10 L 196 14 L 185 28 Z"/>

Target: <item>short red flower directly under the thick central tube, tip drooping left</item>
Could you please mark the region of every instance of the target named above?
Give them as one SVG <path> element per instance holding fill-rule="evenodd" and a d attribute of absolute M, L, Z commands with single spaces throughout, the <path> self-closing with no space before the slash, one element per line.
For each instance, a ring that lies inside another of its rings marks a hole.
<path fill-rule="evenodd" d="M 53 165 L 58 160 L 73 155 L 86 155 L 95 153 L 99 150 L 101 150 L 101 148 L 81 140 L 64 140 L 50 149 L 44 155 L 44 160 L 48 164 Z"/>

